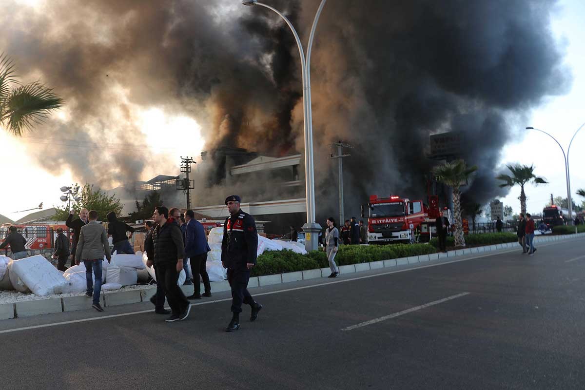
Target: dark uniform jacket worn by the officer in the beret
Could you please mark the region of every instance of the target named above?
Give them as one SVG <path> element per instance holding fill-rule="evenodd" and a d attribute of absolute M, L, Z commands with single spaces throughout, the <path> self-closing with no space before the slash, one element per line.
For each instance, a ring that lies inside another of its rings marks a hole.
<path fill-rule="evenodd" d="M 248 213 L 240 210 L 225 219 L 221 261 L 226 268 L 246 270 L 246 264 L 256 264 L 258 233 L 256 222 Z"/>

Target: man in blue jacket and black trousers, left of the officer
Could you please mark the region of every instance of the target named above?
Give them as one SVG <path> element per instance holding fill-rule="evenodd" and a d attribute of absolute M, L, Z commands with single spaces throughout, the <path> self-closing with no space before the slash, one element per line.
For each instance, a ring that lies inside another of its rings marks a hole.
<path fill-rule="evenodd" d="M 199 275 L 203 279 L 205 292 L 203 296 L 211 296 L 211 284 L 209 284 L 209 275 L 205 264 L 207 263 L 207 253 L 211 250 L 205 237 L 205 229 L 197 219 L 193 210 L 187 210 L 184 214 L 184 234 L 185 234 L 185 257 L 189 258 L 191 264 L 191 273 L 193 276 L 193 295 L 187 296 L 188 299 L 201 299 L 201 282 Z M 183 227 L 181 226 L 181 227 Z"/>

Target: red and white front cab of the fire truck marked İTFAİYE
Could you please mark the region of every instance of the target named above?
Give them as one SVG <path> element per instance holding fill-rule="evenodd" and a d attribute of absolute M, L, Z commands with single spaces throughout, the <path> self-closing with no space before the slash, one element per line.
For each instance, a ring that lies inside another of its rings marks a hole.
<path fill-rule="evenodd" d="M 383 244 L 414 241 L 414 232 L 421 230 L 426 218 L 426 206 L 422 201 L 392 195 L 381 198 L 370 196 L 368 203 L 368 242 Z"/>

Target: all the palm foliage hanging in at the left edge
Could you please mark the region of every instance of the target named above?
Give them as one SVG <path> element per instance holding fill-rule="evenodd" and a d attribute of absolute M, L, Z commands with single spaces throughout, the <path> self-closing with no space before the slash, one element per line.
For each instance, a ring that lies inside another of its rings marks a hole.
<path fill-rule="evenodd" d="M 13 61 L 0 53 L 0 125 L 22 136 L 33 125 L 43 123 L 49 112 L 63 104 L 53 89 L 39 82 L 21 84 L 15 74 Z"/>

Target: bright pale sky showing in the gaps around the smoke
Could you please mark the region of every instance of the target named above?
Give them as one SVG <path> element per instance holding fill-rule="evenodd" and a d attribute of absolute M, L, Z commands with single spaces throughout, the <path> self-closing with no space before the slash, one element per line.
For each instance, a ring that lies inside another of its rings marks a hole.
<path fill-rule="evenodd" d="M 35 6 L 42 0 L 20 0 L 23 6 Z M 563 0 L 559 2 L 558 10 L 553 17 L 553 33 L 556 39 L 565 46 L 565 61 L 573 73 L 573 84 L 570 92 L 564 96 L 551 96 L 546 99 L 541 106 L 535 108 L 532 112 L 527 113 L 528 123 L 517 123 L 511 120 L 511 126 L 518 127 L 520 133 L 526 126 L 534 126 L 546 130 L 553 136 L 557 137 L 563 147 L 568 146 L 573 133 L 582 123 L 585 122 L 585 113 L 583 112 L 583 102 L 585 101 L 585 25 L 582 23 L 585 16 L 585 2 L 580 0 Z M 538 26 L 535 26 L 538 28 Z M 526 59 L 527 61 L 529 58 Z M 67 107 L 54 114 L 57 119 L 67 119 Z M 204 149 L 205 140 L 201 137 L 201 127 L 194 119 L 184 116 L 176 116 L 173 113 L 164 112 L 163 109 L 150 108 L 139 109 L 136 114 L 137 125 L 143 133 L 143 139 L 135 144 L 125 144 L 123 147 L 144 148 L 147 146 L 153 153 L 153 158 L 169 154 L 177 161 L 175 171 L 159 172 L 146 169 L 143 177 L 137 180 L 148 180 L 156 174 L 177 174 L 178 161 L 181 154 L 181 148 L 177 150 L 161 149 L 157 146 L 156 140 L 159 134 L 164 133 L 166 136 L 181 136 L 185 143 L 193 145 L 188 151 L 194 157 L 199 156 L 199 152 Z M 185 128 L 193 129 L 187 134 Z M 512 129 L 513 130 L 513 129 Z M 549 181 L 548 185 L 538 188 L 528 185 L 526 194 L 528 195 L 528 211 L 535 213 L 541 212 L 542 207 L 550 198 L 554 196 L 566 197 L 566 181 L 564 174 L 564 162 L 562 152 L 552 139 L 542 133 L 534 130 L 524 132 L 524 137 L 519 136 L 517 142 L 508 143 L 503 151 L 501 164 L 521 163 L 534 164 L 536 174 L 545 177 Z M 27 134 L 34 137 L 34 134 Z M 60 139 L 59 134 L 55 134 L 55 139 Z M 28 139 L 30 142 L 34 139 Z M 76 143 L 75 140 L 68 140 L 75 145 L 74 150 L 84 150 L 83 146 Z M 57 170 L 54 164 L 56 161 L 46 161 L 46 164 L 40 166 L 36 160 L 31 158 L 29 153 L 33 150 L 27 149 L 18 139 L 4 131 L 0 131 L 0 153 L 2 160 L 5 161 L 4 185 L 0 188 L 0 214 L 13 220 L 22 218 L 29 212 L 20 212 L 36 207 L 43 202 L 44 208 L 53 205 L 61 205 L 59 190 L 63 185 L 69 185 L 79 181 L 73 177 L 70 171 Z M 108 144 L 109 147 L 122 147 L 121 144 Z M 585 166 L 585 130 L 578 134 L 573 142 L 572 154 L 569 163 L 572 167 L 571 182 L 572 196 L 577 204 L 581 203 L 581 198 L 576 195 L 578 188 L 585 188 L 585 172 L 580 168 Z M 174 156 L 176 154 L 176 156 Z M 53 172 L 60 171 L 59 175 Z M 519 211 L 519 188 L 512 188 L 510 193 L 502 198 L 505 205 L 512 206 L 514 213 Z"/>

